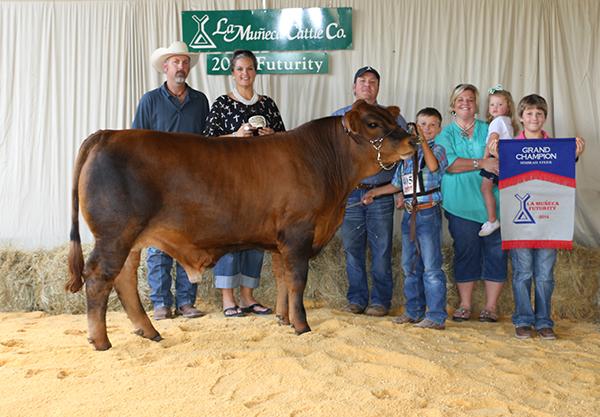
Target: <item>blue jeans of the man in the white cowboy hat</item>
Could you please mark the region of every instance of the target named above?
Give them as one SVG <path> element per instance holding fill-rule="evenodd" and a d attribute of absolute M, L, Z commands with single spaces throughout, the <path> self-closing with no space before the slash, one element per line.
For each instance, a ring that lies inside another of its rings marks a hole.
<path fill-rule="evenodd" d="M 150 300 L 155 309 L 173 306 L 171 293 L 171 267 L 173 258 L 156 248 L 148 248 L 146 255 L 148 266 L 148 285 L 150 285 Z M 177 263 L 175 277 L 175 302 L 179 308 L 196 302 L 197 284 L 192 284 L 185 270 Z"/>

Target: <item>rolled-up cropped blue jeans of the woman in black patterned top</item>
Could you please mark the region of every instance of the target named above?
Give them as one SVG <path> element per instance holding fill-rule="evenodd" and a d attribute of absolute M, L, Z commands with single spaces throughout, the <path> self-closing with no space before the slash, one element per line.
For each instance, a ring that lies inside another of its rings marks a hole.
<path fill-rule="evenodd" d="M 213 272 L 215 288 L 257 288 L 264 252 L 248 249 L 226 253 L 217 261 Z"/>

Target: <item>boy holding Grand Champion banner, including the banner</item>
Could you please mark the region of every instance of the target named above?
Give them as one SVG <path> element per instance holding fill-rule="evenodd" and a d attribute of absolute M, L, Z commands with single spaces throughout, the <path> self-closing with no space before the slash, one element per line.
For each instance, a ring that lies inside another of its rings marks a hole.
<path fill-rule="evenodd" d="M 515 139 L 534 139 L 533 143 L 515 140 L 500 147 L 502 246 L 510 249 L 513 269 L 512 321 L 518 339 L 532 337 L 535 328 L 540 338 L 553 340 L 553 270 L 557 249 L 572 247 L 575 160 L 584 141 L 575 138 L 574 154 L 573 139 L 542 142 L 549 139 L 543 130 L 548 104 L 537 94 L 521 99 L 518 115 L 523 131 Z"/>

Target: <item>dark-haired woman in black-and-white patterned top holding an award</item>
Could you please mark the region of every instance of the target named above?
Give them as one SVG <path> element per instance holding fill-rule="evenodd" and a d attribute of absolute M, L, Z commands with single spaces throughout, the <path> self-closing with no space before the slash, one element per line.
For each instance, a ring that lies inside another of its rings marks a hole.
<path fill-rule="evenodd" d="M 258 62 L 251 51 L 239 50 L 231 58 L 234 87 L 218 97 L 206 119 L 205 136 L 264 136 L 285 130 L 275 102 L 254 91 Z M 246 313 L 271 314 L 273 310 L 253 296 L 258 287 L 263 252 L 255 249 L 227 253 L 215 265 L 215 287 L 223 296 L 225 317 Z M 239 287 L 239 302 L 234 289 Z"/>

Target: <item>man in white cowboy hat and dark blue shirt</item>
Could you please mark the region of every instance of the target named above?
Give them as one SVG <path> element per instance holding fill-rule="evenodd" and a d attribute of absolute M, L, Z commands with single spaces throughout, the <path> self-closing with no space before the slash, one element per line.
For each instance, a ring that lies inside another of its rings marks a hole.
<path fill-rule="evenodd" d="M 167 81 L 143 95 L 132 127 L 201 134 L 209 111 L 208 100 L 203 93 L 194 90 L 185 82 L 190 69 L 198 62 L 198 54 L 189 52 L 183 42 L 173 42 L 168 48 L 158 48 L 154 51 L 150 60 L 158 72 L 166 75 Z M 156 248 L 148 248 L 146 262 L 154 319 L 172 318 L 173 258 Z M 175 314 L 187 318 L 202 316 L 203 313 L 194 307 L 197 284 L 189 281 L 179 263 L 176 269 Z"/>

